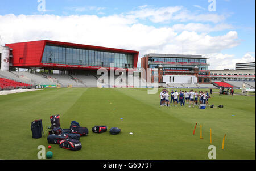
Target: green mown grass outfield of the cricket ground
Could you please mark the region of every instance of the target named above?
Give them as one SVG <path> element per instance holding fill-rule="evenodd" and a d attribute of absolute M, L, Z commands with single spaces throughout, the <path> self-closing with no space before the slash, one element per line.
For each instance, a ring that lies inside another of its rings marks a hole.
<path fill-rule="evenodd" d="M 46 88 L 2 95 L 0 159 L 38 159 L 39 145 L 52 151 L 53 159 L 208 159 L 211 128 L 217 159 L 255 160 L 255 96 L 216 93 L 209 103 L 224 108 L 198 109 L 160 106 L 159 93 L 160 89 L 148 95 L 146 88 Z M 89 135 L 80 138 L 80 151 L 57 144 L 47 148 L 53 114 L 60 114 L 62 128 L 73 120 L 88 127 Z M 30 125 L 35 119 L 43 120 L 40 139 L 32 139 Z M 95 125 L 119 127 L 121 133 L 94 134 Z"/>

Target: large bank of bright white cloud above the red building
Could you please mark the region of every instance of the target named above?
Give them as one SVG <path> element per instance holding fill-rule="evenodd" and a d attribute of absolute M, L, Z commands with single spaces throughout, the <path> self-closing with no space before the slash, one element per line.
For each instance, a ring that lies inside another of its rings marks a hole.
<path fill-rule="evenodd" d="M 183 7 L 155 8 L 154 11 L 150 11 L 149 9 L 152 7 L 147 5 L 139 8 L 141 10 L 131 11 L 128 14 L 101 17 L 97 15 L 57 16 L 48 14 L 0 15 L 2 44 L 55 40 L 139 50 L 139 57 L 148 53 L 210 54 L 213 59 L 230 58 L 229 55 L 217 54 L 224 49 L 240 44 L 236 31 L 228 31 L 221 36 L 209 35 L 209 32 L 212 31 L 232 28 L 229 24 L 188 23 L 154 27 L 142 24 L 138 20 L 165 22 L 180 15 L 179 12 L 184 11 Z M 180 19 L 183 18 L 180 16 Z M 215 61 L 212 62 L 214 67 L 218 67 L 214 65 Z"/>

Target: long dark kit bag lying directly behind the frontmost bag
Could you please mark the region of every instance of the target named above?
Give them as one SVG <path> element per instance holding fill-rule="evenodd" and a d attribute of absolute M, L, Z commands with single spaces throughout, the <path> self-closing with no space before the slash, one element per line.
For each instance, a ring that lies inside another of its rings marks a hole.
<path fill-rule="evenodd" d="M 47 140 L 49 144 L 59 144 L 61 140 L 64 139 L 80 139 L 79 134 L 59 134 L 59 135 L 48 135 Z"/>

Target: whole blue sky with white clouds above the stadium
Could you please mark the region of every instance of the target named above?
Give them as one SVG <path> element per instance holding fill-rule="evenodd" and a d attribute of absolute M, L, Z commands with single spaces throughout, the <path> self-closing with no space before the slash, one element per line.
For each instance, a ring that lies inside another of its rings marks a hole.
<path fill-rule="evenodd" d="M 46 11 L 38 11 L 42 1 L 0 0 L 0 35 L 4 42 L 57 39 L 139 50 L 140 57 L 151 52 L 202 54 L 210 57 L 212 69 L 232 68 L 235 62 L 255 60 L 255 1 L 216 0 L 216 11 L 209 11 L 213 0 L 45 0 Z M 86 24 L 81 24 L 83 21 Z M 40 30 L 34 28 L 37 22 L 55 27 L 42 25 Z M 15 29 L 18 23 L 24 25 Z M 59 33 L 59 26 L 67 23 L 72 24 Z M 8 27 L 12 27 L 9 32 Z M 98 32 L 102 32 L 102 40 Z M 76 33 L 82 33 L 80 39 L 72 38 Z M 105 36 L 108 33 L 113 39 Z M 115 33 L 134 37 L 129 36 L 128 40 Z"/>

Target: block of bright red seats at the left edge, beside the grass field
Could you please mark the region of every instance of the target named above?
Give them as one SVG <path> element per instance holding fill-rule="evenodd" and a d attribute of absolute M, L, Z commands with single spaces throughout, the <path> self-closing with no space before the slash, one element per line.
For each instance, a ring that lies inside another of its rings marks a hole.
<path fill-rule="evenodd" d="M 22 83 L 22 82 L 15 82 L 14 80 L 0 78 L 0 88 L 2 90 L 10 90 L 16 88 L 31 88 L 31 84 Z"/>

